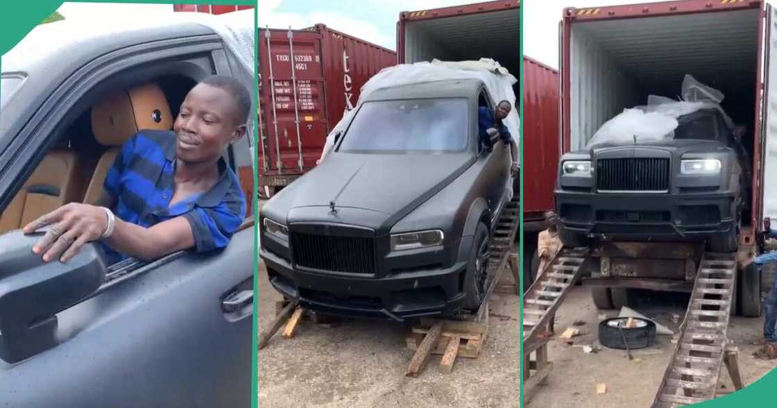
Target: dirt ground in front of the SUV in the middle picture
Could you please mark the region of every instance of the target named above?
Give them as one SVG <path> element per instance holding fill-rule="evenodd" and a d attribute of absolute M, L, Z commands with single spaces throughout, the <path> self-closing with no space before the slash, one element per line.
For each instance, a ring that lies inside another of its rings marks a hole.
<path fill-rule="evenodd" d="M 267 327 L 281 297 L 260 262 L 259 326 Z M 277 333 L 259 351 L 259 406 L 270 407 L 517 407 L 520 315 L 517 295 L 490 304 L 490 333 L 476 359 L 459 357 L 441 374 L 432 355 L 417 378 L 405 370 L 406 326 L 347 319 L 331 327 L 304 321 L 291 340 Z"/>

